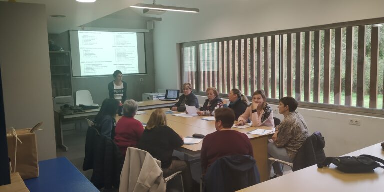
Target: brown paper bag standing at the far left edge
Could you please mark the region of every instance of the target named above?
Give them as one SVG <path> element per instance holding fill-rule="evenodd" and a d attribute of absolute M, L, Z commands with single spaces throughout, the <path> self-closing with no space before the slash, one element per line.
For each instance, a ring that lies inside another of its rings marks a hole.
<path fill-rule="evenodd" d="M 36 135 L 31 133 L 29 130 L 16 130 L 17 137 L 20 139 L 22 144 L 16 139 L 16 136 L 13 133 L 9 132 L 6 135 L 6 139 L 8 141 L 8 155 L 12 164 L 12 172 L 20 173 L 22 179 L 38 177 Z"/>

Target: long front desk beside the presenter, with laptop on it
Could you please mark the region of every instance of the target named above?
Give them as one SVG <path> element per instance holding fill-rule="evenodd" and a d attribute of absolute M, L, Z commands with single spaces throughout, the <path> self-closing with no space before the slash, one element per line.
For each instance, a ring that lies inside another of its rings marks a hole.
<path fill-rule="evenodd" d="M 149 110 L 155 108 L 166 108 L 173 106 L 176 101 L 163 101 L 163 100 L 147 100 L 138 102 L 138 110 Z M 73 114 L 60 114 L 60 111 L 54 111 L 54 127 L 56 131 L 56 145 L 62 147 L 65 151 L 68 151 L 68 147 L 64 144 L 64 138 L 62 133 L 62 124 L 65 121 L 80 120 L 84 118 L 90 118 L 97 115 L 100 111 L 100 107 L 97 109 L 84 110 L 83 112 L 76 112 Z"/>

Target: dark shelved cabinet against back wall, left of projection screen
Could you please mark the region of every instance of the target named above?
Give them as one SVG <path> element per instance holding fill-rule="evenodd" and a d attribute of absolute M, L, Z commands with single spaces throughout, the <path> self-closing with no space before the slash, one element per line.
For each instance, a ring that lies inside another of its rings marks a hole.
<path fill-rule="evenodd" d="M 50 51 L 52 95 L 72 96 L 71 58 L 69 51 Z"/>

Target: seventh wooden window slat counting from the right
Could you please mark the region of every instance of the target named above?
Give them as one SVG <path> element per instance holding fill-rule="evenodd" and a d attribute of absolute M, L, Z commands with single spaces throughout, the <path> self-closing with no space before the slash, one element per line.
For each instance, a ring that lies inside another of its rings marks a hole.
<path fill-rule="evenodd" d="M 310 96 L 310 59 L 311 59 L 311 36 L 310 31 L 305 32 L 305 51 L 304 51 L 304 101 L 309 102 Z"/>

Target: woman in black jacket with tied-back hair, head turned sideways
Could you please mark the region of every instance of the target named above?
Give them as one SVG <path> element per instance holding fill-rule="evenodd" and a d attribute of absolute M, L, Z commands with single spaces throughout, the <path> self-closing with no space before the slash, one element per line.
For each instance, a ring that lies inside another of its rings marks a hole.
<path fill-rule="evenodd" d="M 230 90 L 228 94 L 229 105 L 226 100 L 222 101 L 223 107 L 231 108 L 236 115 L 236 119 L 240 117 L 242 113 L 245 112 L 246 107 L 248 107 L 248 98 L 241 93 L 241 91 L 237 88 L 233 88 Z"/>

